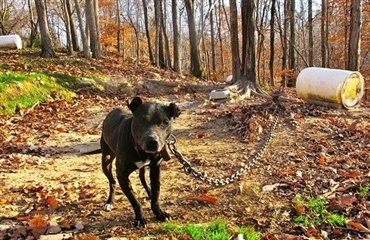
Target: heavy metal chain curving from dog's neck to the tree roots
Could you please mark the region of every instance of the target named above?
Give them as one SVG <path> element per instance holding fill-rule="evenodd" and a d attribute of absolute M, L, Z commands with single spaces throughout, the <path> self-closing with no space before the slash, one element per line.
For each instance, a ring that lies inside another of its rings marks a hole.
<path fill-rule="evenodd" d="M 280 105 L 280 103 L 277 103 L 277 106 L 274 110 L 274 119 L 269 127 L 269 130 L 267 131 L 265 137 L 262 139 L 261 145 L 258 148 L 258 151 L 254 153 L 250 160 L 245 163 L 244 166 L 241 166 L 237 171 L 235 171 L 233 174 L 231 174 L 229 177 L 226 178 L 213 178 L 207 176 L 206 172 L 200 172 L 197 169 L 195 169 L 189 160 L 187 160 L 181 152 L 176 148 L 176 138 L 174 135 L 171 135 L 171 138 L 167 140 L 167 145 L 170 151 L 173 155 L 178 159 L 178 161 L 183 165 L 184 171 L 187 175 L 193 175 L 195 178 L 202 180 L 203 182 L 206 182 L 208 184 L 214 185 L 214 186 L 225 186 L 226 184 L 230 184 L 235 182 L 239 177 L 247 170 L 250 170 L 257 162 L 260 160 L 260 158 L 265 153 L 268 145 L 271 142 L 272 136 L 274 134 L 275 128 L 277 126 L 277 123 L 279 121 L 279 117 L 281 113 L 284 111 L 284 107 Z"/>

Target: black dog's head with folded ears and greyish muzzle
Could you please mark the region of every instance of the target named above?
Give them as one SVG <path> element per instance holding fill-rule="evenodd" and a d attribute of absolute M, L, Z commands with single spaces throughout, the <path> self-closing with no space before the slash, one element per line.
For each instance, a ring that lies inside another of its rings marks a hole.
<path fill-rule="evenodd" d="M 165 149 L 166 140 L 171 135 L 173 120 L 180 115 L 174 103 L 143 102 L 135 97 L 128 108 L 133 114 L 131 132 L 135 144 L 147 153 L 158 153 Z"/>

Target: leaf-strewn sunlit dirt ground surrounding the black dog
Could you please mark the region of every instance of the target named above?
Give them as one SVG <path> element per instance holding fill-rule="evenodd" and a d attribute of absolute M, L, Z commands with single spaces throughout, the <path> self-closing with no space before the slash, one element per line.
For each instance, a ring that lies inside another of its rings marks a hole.
<path fill-rule="evenodd" d="M 178 150 L 196 169 L 228 177 L 258 151 L 275 116 L 274 104 L 257 97 L 214 103 L 209 92 L 187 88 L 187 79 L 172 72 L 120 61 L 95 64 L 90 70 L 102 69 L 110 90 L 81 91 L 73 101 L 0 116 L 0 238 L 190 239 L 165 231 L 155 220 L 136 173 L 131 181 L 148 227 L 131 225 L 133 210 L 118 186 L 113 210 L 103 211 L 108 182 L 100 155 L 80 153 L 99 147 L 106 114 L 139 93 L 150 101 L 178 104 L 182 113 L 173 132 Z M 148 74 L 169 87 L 145 87 Z M 122 84 L 133 92 L 122 91 Z M 179 85 L 184 87 L 174 87 Z M 269 240 L 370 238 L 370 101 L 348 111 L 306 104 L 294 89 L 284 96 L 292 100 L 281 102 L 285 111 L 265 154 L 236 182 L 209 185 L 186 175 L 173 155 L 162 164 L 160 202 L 172 222 L 223 220 L 231 227 L 251 227 Z M 325 199 L 325 209 L 313 209 L 312 199 Z M 331 221 L 333 214 L 345 223 Z"/>

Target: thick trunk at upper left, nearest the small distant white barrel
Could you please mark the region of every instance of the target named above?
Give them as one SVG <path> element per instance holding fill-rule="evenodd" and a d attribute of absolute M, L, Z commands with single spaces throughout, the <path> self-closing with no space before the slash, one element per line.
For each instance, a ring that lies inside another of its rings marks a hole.
<path fill-rule="evenodd" d="M 51 42 L 48 22 L 46 18 L 46 8 L 44 0 L 35 0 L 37 17 L 41 34 L 41 57 L 56 57 L 53 43 Z"/>

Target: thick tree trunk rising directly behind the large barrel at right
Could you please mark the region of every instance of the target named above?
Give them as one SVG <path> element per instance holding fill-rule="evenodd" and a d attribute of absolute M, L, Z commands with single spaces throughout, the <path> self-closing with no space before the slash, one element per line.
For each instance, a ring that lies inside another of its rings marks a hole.
<path fill-rule="evenodd" d="M 362 0 L 351 1 L 347 69 L 359 71 L 361 54 Z"/>

